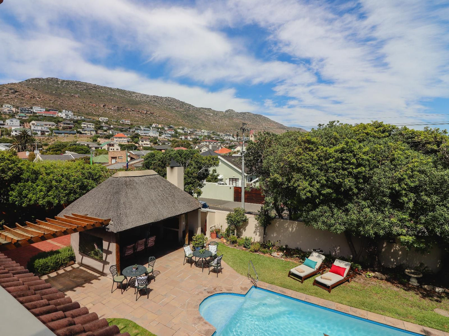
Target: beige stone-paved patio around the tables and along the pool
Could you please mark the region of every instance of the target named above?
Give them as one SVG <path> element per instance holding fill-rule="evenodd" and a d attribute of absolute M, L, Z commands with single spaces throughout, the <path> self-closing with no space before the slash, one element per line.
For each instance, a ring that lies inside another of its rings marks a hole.
<path fill-rule="evenodd" d="M 112 280 L 79 265 L 66 267 L 43 276 L 48 283 L 66 292 L 74 301 L 96 312 L 99 318 L 130 319 L 158 336 L 201 335 L 210 336 L 215 331 L 198 312 L 202 300 L 214 293 L 246 293 L 251 282 L 222 262 L 223 273 L 208 275 L 201 267 L 186 263 L 183 266 L 184 250 L 181 248 L 156 259 L 154 270 L 159 274 L 148 286 L 149 299 L 139 297 L 134 289 L 123 294 L 120 289 L 110 293 Z M 413 323 L 374 314 L 339 303 L 313 297 L 303 293 L 259 282 L 259 287 L 283 293 L 314 304 L 343 311 L 348 314 L 385 323 L 394 327 L 423 335 L 449 336 L 449 333 L 421 327 Z"/>

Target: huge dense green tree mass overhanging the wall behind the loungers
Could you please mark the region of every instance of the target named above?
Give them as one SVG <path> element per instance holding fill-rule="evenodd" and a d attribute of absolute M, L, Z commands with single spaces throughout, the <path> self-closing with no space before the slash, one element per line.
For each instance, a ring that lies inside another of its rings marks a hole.
<path fill-rule="evenodd" d="M 448 136 L 379 122 L 321 125 L 309 133 L 261 134 L 247 165 L 267 199 L 306 225 L 370 246 L 397 237 L 407 247 L 448 248 Z M 283 214 L 280 214 L 283 215 Z"/>

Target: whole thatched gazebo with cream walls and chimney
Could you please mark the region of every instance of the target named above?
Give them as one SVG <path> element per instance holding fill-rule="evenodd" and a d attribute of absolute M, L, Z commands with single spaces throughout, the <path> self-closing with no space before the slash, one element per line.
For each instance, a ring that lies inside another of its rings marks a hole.
<path fill-rule="evenodd" d="M 200 209 L 197 199 L 184 191 L 184 169 L 172 165 L 167 180 L 153 170 L 116 172 L 59 215 L 111 219 L 105 228 L 71 235 L 77 263 L 107 273 L 114 264 L 119 270 L 129 266 L 120 260 L 154 247 L 155 241 L 179 246 L 189 239 L 189 230 L 200 233 Z"/>

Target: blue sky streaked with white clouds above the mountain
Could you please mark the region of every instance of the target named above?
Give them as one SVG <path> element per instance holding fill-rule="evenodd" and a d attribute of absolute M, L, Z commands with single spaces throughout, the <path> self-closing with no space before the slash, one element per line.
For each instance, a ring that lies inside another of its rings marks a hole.
<path fill-rule="evenodd" d="M 448 18 L 447 1 L 6 0 L 0 83 L 79 80 L 289 126 L 449 123 Z"/>

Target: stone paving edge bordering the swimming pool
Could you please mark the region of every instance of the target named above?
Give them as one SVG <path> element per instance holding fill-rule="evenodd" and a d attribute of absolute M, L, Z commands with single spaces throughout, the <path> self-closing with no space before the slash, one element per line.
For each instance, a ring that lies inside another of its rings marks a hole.
<path fill-rule="evenodd" d="M 249 288 L 248 288 L 249 287 Z M 321 308 L 326 308 L 329 310 L 333 310 L 337 313 L 343 313 L 343 314 L 348 314 L 352 317 L 357 317 L 360 319 L 365 319 L 368 320 L 370 322 L 374 322 L 374 323 L 379 323 L 381 325 L 385 325 L 387 327 L 394 327 L 396 329 L 400 329 L 400 330 L 404 330 L 405 332 L 411 332 L 413 335 L 413 333 L 418 334 L 418 335 L 424 335 L 424 336 L 449 336 L 448 332 L 444 332 L 441 330 L 437 330 L 437 329 L 433 329 L 430 327 L 424 327 L 424 326 L 420 326 L 418 324 L 414 324 L 414 323 L 410 323 L 410 322 L 406 322 L 406 321 L 402 321 L 399 319 L 394 319 L 388 316 L 384 316 L 381 314 L 376 314 L 376 313 L 372 313 L 370 311 L 367 310 L 362 310 L 362 309 L 358 309 L 358 308 L 354 308 L 351 306 L 346 306 L 337 302 L 333 302 L 330 300 L 326 300 L 326 299 L 321 299 L 319 297 L 314 297 L 312 295 L 308 295 L 308 294 L 304 294 L 304 293 L 300 293 L 300 292 L 296 292 L 294 290 L 291 289 L 286 289 L 286 288 L 282 288 L 282 287 L 278 287 L 276 285 L 273 284 L 268 284 L 268 283 L 264 283 L 262 281 L 259 281 L 257 286 L 253 286 L 252 284 L 248 287 L 243 287 L 241 286 L 240 288 L 235 288 L 233 287 L 231 288 L 225 288 L 225 286 L 214 286 L 211 287 L 209 289 L 206 290 L 207 295 L 204 295 L 204 291 L 200 291 L 197 294 L 202 294 L 201 297 L 192 297 L 192 299 L 194 300 L 195 303 L 192 302 L 192 306 L 194 306 L 196 309 L 196 311 L 198 312 L 197 317 L 200 317 L 200 319 L 202 321 L 204 321 L 206 324 L 208 324 L 209 326 L 211 326 L 211 333 L 207 336 L 211 336 L 214 335 L 214 333 L 216 332 L 216 328 L 213 327 L 210 323 L 208 323 L 202 316 L 201 314 L 199 314 L 199 305 L 201 304 L 202 301 L 204 301 L 207 297 L 210 297 L 214 294 L 220 294 L 220 293 L 228 293 L 228 294 L 243 294 L 246 295 L 249 290 L 252 287 L 256 287 L 259 289 L 265 289 L 268 290 L 270 292 L 274 292 L 289 298 L 293 298 L 293 299 L 297 299 L 299 301 L 302 301 L 304 303 L 311 303 L 313 305 L 319 306 Z M 331 295 L 331 294 L 330 294 Z M 189 300 L 190 301 L 190 300 Z"/>

